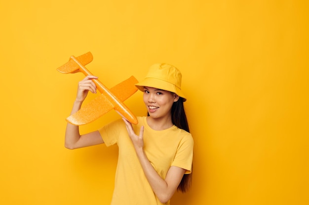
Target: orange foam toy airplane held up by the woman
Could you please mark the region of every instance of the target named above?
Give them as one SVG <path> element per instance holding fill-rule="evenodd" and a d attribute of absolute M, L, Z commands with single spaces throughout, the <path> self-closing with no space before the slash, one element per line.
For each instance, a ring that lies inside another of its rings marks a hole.
<path fill-rule="evenodd" d="M 91 62 L 93 59 L 90 52 L 83 54 L 77 58 L 71 56 L 69 62 L 59 67 L 57 70 L 61 73 L 77 73 L 82 72 L 85 76 L 92 75 L 84 65 Z M 92 79 L 97 89 L 101 92 L 99 97 L 96 97 L 87 105 L 83 106 L 77 113 L 67 117 L 67 121 L 74 125 L 87 124 L 112 109 L 126 118 L 132 124 L 137 124 L 137 118 L 129 110 L 127 106 L 124 105 L 123 101 L 130 97 L 137 91 L 134 84 L 138 81 L 131 76 L 129 79 L 123 81 L 122 83 L 116 85 L 115 87 L 108 89 L 99 80 Z"/>

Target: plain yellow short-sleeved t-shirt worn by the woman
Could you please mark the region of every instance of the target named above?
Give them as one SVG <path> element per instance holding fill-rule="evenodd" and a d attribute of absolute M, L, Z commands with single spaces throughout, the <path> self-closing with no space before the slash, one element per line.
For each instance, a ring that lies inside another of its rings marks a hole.
<path fill-rule="evenodd" d="M 189 132 L 175 125 L 166 130 L 153 130 L 146 117 L 137 117 L 133 125 L 139 134 L 144 126 L 144 150 L 156 172 L 164 179 L 171 166 L 181 167 L 191 173 L 193 138 Z M 163 205 L 152 190 L 122 119 L 116 120 L 99 132 L 106 146 L 119 147 L 115 189 L 111 205 Z M 169 202 L 165 205 L 169 205 Z"/>

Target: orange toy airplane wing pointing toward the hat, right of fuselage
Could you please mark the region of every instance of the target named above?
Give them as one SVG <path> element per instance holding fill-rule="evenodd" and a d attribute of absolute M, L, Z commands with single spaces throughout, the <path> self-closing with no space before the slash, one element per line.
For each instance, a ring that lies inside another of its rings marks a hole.
<path fill-rule="evenodd" d="M 136 80 L 136 78 L 134 78 L 134 76 L 131 76 L 130 78 L 119 83 L 110 90 L 120 101 L 123 102 L 137 91 L 137 88 L 134 86 L 137 83 L 138 81 Z"/>

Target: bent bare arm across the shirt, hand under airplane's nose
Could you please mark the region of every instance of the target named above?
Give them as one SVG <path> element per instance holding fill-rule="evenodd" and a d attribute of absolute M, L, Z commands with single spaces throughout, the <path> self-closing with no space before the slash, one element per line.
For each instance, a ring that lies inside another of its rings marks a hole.
<path fill-rule="evenodd" d="M 143 140 L 144 127 L 141 127 L 140 134 L 137 136 L 133 131 L 131 123 L 124 118 L 123 121 L 126 124 L 129 136 L 133 142 L 136 154 L 148 182 L 160 202 L 163 204 L 166 203 L 172 198 L 186 170 L 180 167 L 171 166 L 165 179 L 161 178 L 161 176 L 156 173 L 145 154 Z"/>

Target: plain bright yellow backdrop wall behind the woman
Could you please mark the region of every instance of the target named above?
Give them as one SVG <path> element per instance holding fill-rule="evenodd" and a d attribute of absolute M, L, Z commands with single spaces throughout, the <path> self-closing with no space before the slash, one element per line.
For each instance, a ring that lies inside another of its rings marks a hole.
<path fill-rule="evenodd" d="M 117 147 L 64 148 L 84 76 L 56 68 L 90 51 L 86 67 L 107 87 L 141 80 L 156 62 L 182 71 L 193 187 L 172 204 L 308 205 L 308 9 L 307 0 L 1 0 L 0 204 L 109 204 Z M 138 116 L 141 97 L 125 101 Z"/>

